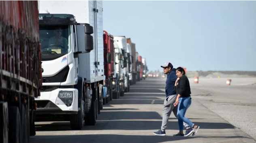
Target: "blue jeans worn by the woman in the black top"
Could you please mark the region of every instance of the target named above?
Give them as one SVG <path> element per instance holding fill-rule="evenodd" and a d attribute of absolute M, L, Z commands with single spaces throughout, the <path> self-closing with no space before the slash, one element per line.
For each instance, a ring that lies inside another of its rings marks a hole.
<path fill-rule="evenodd" d="M 177 118 L 179 123 L 179 131 L 183 131 L 183 122 L 187 123 L 189 126 L 193 127 L 194 123 L 185 117 L 185 113 L 191 105 L 191 97 L 180 97 Z"/>

